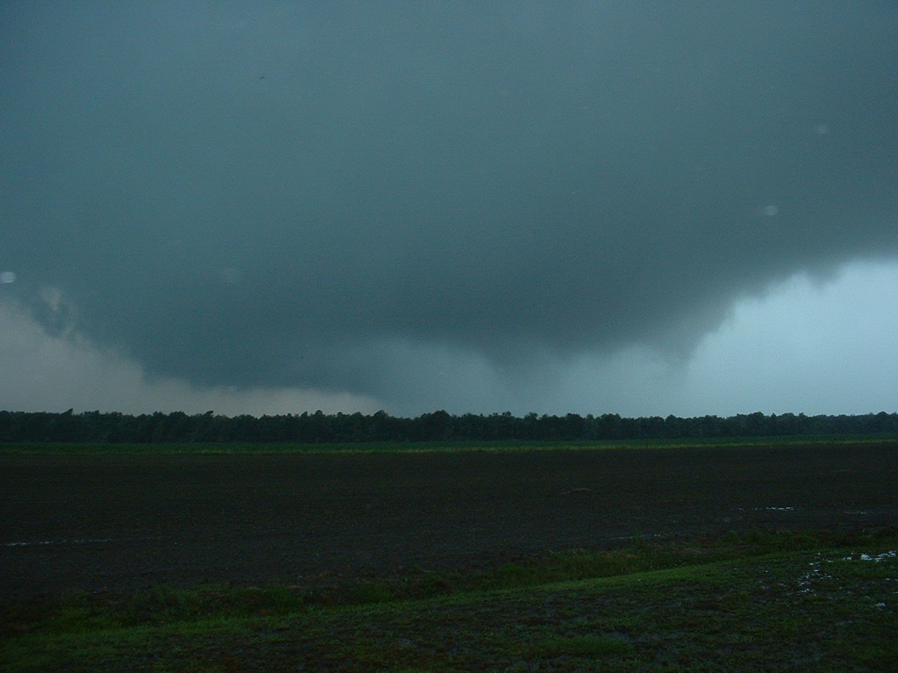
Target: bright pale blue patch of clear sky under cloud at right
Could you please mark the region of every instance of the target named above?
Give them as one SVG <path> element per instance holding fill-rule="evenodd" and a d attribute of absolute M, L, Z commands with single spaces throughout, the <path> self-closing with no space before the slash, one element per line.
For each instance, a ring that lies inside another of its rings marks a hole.
<path fill-rule="evenodd" d="M 898 262 L 855 263 L 832 282 L 798 274 L 739 302 L 705 337 L 683 398 L 764 413 L 898 410 Z M 725 372 L 722 374 L 721 372 Z M 726 386 L 715 381 L 726 376 Z"/>

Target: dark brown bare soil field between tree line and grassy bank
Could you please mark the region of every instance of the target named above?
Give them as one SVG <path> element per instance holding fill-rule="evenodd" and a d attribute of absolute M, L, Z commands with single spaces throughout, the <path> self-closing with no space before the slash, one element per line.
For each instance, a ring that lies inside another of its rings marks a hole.
<path fill-rule="evenodd" d="M 0 595 L 501 564 L 634 537 L 898 523 L 898 443 L 0 455 Z"/>

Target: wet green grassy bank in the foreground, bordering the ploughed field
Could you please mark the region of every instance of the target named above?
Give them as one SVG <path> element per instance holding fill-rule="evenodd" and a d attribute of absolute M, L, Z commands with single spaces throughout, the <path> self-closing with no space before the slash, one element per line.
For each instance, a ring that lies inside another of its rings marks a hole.
<path fill-rule="evenodd" d="M 329 587 L 73 590 L 2 609 L 0 669 L 898 669 L 898 535 L 735 534 Z"/>

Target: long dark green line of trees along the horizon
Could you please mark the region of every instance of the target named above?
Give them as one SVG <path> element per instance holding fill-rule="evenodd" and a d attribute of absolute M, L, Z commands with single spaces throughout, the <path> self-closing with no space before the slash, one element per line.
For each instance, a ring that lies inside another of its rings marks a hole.
<path fill-rule="evenodd" d="M 445 411 L 400 418 L 363 414 L 226 416 L 207 411 L 187 415 L 127 415 L 85 411 L 0 411 L 0 441 L 297 442 L 362 441 L 590 441 L 702 437 L 768 437 L 808 434 L 898 433 L 898 414 L 738 414 L 726 418 L 669 415 L 624 418 L 617 414 L 523 417 L 503 414 L 451 415 Z"/>

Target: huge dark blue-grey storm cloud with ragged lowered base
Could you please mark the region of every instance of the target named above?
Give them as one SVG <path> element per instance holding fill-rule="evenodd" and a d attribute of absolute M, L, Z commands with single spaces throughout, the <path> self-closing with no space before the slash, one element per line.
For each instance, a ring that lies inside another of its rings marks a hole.
<path fill-rule="evenodd" d="M 150 377 L 501 405 L 898 255 L 894 3 L 0 12 L 0 290 Z"/>

